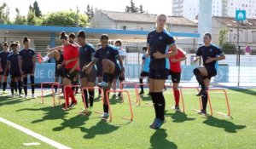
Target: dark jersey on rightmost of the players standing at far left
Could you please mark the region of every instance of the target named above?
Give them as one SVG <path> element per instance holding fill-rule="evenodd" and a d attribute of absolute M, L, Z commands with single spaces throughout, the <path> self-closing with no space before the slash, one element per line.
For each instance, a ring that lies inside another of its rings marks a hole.
<path fill-rule="evenodd" d="M 21 49 L 19 55 L 22 60 L 22 69 L 32 69 L 32 57 L 35 55 L 34 49 Z"/>

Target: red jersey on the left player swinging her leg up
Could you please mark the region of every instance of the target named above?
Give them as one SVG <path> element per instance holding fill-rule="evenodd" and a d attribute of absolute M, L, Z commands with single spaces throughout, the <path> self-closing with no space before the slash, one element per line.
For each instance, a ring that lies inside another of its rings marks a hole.
<path fill-rule="evenodd" d="M 79 48 L 73 44 L 63 46 L 63 57 L 64 60 L 72 60 L 79 57 Z M 65 66 L 66 69 L 72 69 L 77 64 L 77 60 L 72 61 Z"/>

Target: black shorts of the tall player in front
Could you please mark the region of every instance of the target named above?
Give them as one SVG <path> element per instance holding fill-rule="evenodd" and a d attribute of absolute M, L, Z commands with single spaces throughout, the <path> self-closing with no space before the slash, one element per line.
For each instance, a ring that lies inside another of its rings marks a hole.
<path fill-rule="evenodd" d="M 169 69 L 149 69 L 148 77 L 152 79 L 167 79 L 169 76 Z"/>

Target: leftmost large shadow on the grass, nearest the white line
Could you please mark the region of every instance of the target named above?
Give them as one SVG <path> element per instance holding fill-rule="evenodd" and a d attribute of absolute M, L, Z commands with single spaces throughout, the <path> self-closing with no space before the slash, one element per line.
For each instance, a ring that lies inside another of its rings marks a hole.
<path fill-rule="evenodd" d="M 44 117 L 42 117 L 41 119 L 37 119 L 32 121 L 32 123 L 40 123 L 40 122 L 44 122 L 47 120 L 55 120 L 55 119 L 64 119 L 64 117 L 67 115 L 67 112 L 63 111 L 62 106 L 47 106 L 47 107 L 43 107 L 43 108 L 24 108 L 24 109 L 20 109 L 17 110 L 16 112 L 22 112 L 22 111 L 32 111 L 32 112 L 38 112 L 38 111 L 43 111 L 44 113 Z"/>

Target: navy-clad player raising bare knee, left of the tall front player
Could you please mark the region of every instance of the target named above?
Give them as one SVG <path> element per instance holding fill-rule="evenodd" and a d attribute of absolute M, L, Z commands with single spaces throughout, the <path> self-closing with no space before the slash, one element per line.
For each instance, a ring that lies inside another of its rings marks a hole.
<path fill-rule="evenodd" d="M 108 44 L 108 35 L 102 35 L 101 44 L 102 48 L 96 50 L 94 59 L 90 62 L 90 64 L 84 66 L 82 71 L 85 71 L 87 74 L 90 74 L 96 62 L 98 60 L 102 62 L 103 82 L 98 83 L 98 86 L 102 87 L 104 91 L 104 113 L 101 117 L 108 118 L 108 104 L 106 100 L 106 92 L 111 88 L 113 78 L 119 76 L 120 72 L 122 72 L 122 70 L 124 69 L 124 66 L 122 58 L 119 55 L 118 49 Z M 119 63 L 117 62 L 117 60 L 119 60 Z"/>

